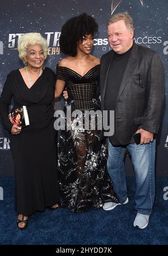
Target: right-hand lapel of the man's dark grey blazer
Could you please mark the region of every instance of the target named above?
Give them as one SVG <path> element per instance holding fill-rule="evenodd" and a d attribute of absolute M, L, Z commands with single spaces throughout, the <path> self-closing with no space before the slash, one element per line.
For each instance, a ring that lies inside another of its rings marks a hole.
<path fill-rule="evenodd" d="M 127 85 L 128 81 L 129 81 L 129 78 L 132 76 L 132 74 L 134 72 L 134 69 L 136 68 L 136 64 L 138 62 L 138 52 L 137 52 L 137 50 L 138 50 L 138 45 L 136 43 L 134 43 L 132 51 L 131 51 L 129 59 L 128 59 L 127 66 L 126 66 L 125 71 L 124 71 L 124 75 L 123 75 L 123 78 L 122 78 L 122 83 L 120 85 L 117 100 L 118 100 L 119 96 L 122 94 L 125 86 Z"/>

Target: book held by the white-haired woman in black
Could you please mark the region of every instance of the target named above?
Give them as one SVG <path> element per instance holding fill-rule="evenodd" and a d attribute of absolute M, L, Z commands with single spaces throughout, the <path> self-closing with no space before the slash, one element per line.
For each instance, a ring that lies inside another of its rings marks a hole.
<path fill-rule="evenodd" d="M 13 109 L 8 117 L 12 124 L 24 128 L 29 125 L 29 115 L 27 113 L 26 106 L 21 106 L 20 108 Z"/>

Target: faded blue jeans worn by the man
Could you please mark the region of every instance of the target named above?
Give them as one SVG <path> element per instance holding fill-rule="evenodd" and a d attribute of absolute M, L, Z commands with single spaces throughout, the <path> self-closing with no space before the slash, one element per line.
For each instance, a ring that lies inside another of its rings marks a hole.
<path fill-rule="evenodd" d="M 124 203 L 127 199 L 124 169 L 124 153 L 127 149 L 136 176 L 136 210 L 144 215 L 152 213 L 155 201 L 155 147 L 156 139 L 148 144 L 132 143 L 125 147 L 113 146 L 109 142 L 108 172 L 119 201 Z"/>

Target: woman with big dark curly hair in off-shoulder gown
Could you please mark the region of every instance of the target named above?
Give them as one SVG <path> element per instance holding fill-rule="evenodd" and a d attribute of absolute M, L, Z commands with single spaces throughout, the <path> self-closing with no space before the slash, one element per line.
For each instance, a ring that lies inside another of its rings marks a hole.
<path fill-rule="evenodd" d="M 108 201 L 118 202 L 106 169 L 107 147 L 100 141 L 97 117 L 95 128 L 81 124 L 86 119 L 86 110 L 100 110 L 100 59 L 90 54 L 97 27 L 94 18 L 83 13 L 63 25 L 59 41 L 60 50 L 69 57 L 57 66 L 55 97 L 66 87 L 68 101 L 64 113 L 80 110 L 80 119 L 71 115 L 71 130 L 67 129 L 65 116 L 66 128 L 58 143 L 59 204 L 72 212 L 100 208 Z"/>

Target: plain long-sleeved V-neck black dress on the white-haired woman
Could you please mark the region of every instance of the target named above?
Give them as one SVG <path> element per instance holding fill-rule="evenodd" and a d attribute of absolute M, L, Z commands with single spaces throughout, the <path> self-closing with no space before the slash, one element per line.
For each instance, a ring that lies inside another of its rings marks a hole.
<path fill-rule="evenodd" d="M 16 211 L 29 216 L 58 202 L 57 139 L 54 129 L 54 72 L 45 68 L 29 89 L 20 71 L 12 71 L 4 85 L 0 110 L 4 126 L 11 132 L 8 105 L 27 106 L 30 125 L 20 134 L 10 134 L 15 164 Z"/>

